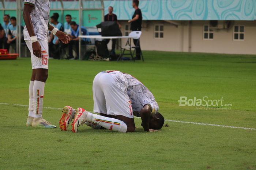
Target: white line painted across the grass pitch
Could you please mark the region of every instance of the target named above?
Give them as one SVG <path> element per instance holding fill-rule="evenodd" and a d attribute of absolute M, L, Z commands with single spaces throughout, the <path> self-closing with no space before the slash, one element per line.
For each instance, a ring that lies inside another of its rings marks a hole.
<path fill-rule="evenodd" d="M 13 103 L 0 103 L 0 104 L 21 106 L 21 107 L 29 107 L 29 105 L 24 105 L 24 104 L 13 104 Z M 57 108 L 57 107 L 43 107 L 43 108 L 53 109 L 53 110 L 62 110 L 62 108 Z M 137 117 L 135 117 L 135 118 L 137 118 Z M 233 128 L 233 129 L 256 130 L 256 128 L 250 128 L 250 127 L 237 127 L 237 126 L 227 126 L 227 125 L 220 125 L 220 124 L 210 124 L 210 123 L 186 122 L 186 121 L 181 121 L 181 120 L 165 119 L 165 121 L 167 121 L 167 122 L 176 122 L 176 123 L 197 124 L 197 125 L 204 125 L 204 126 L 226 127 L 226 128 Z"/>

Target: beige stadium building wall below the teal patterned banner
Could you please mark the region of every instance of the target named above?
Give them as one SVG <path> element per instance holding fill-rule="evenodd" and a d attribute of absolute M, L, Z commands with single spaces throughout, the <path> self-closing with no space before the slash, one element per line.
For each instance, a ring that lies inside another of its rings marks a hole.
<path fill-rule="evenodd" d="M 176 52 L 256 54 L 256 20 L 232 22 L 229 29 L 213 29 L 213 39 L 204 39 L 204 25 L 209 25 L 209 21 L 143 21 L 141 48 Z M 127 21 L 120 23 L 123 35 L 127 34 L 129 24 Z M 156 25 L 163 25 L 163 38 L 155 38 Z M 244 26 L 244 40 L 234 40 L 235 25 Z M 122 40 L 122 44 L 124 43 L 125 40 Z"/>

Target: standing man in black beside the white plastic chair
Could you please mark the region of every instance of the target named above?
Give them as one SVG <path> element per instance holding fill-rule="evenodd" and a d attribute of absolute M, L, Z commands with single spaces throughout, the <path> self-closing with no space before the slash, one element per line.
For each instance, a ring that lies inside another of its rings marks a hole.
<path fill-rule="evenodd" d="M 128 23 L 131 23 L 132 31 L 141 31 L 141 25 L 142 25 L 142 12 L 139 9 L 139 0 L 132 0 L 132 7 L 135 9 L 135 12 L 132 16 L 132 19 L 128 21 Z M 134 45 L 137 44 L 137 39 L 133 39 Z M 138 47 L 136 48 L 136 60 L 140 60 L 140 43 L 138 44 Z"/>

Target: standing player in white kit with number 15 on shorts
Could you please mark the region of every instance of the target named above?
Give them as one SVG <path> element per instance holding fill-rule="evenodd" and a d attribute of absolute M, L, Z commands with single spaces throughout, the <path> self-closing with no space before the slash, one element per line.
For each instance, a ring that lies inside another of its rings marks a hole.
<path fill-rule="evenodd" d="M 44 87 L 48 77 L 48 39 L 49 30 L 63 43 L 70 41 L 69 37 L 49 25 L 50 0 L 25 0 L 23 18 L 24 40 L 31 53 L 32 76 L 29 84 L 29 116 L 26 126 L 56 128 L 42 118 Z"/>

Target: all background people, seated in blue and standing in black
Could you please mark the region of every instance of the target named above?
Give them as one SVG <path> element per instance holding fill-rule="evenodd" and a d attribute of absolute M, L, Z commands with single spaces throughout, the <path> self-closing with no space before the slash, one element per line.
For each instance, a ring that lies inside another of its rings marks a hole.
<path fill-rule="evenodd" d="M 131 29 L 132 31 L 141 31 L 142 28 L 142 12 L 139 9 L 139 1 L 133 0 L 132 6 L 135 9 L 135 12 L 132 16 L 132 19 L 128 22 L 131 23 Z M 113 13 L 113 7 L 108 8 L 108 14 L 105 15 L 104 21 L 116 21 L 119 25 L 119 28 L 121 28 L 121 24 L 118 23 L 117 15 Z M 59 41 L 58 37 L 56 35 L 53 35 L 51 32 L 49 32 L 50 39 L 49 39 L 49 56 L 54 59 L 60 59 L 61 52 L 64 48 L 68 48 L 68 54 L 67 59 L 79 59 L 79 25 L 72 21 L 71 15 L 65 16 L 65 23 L 64 27 L 63 25 L 58 21 L 59 14 L 53 13 L 53 15 L 50 17 L 50 24 L 53 27 L 56 27 L 60 31 L 65 32 L 71 39 L 71 41 L 68 44 L 63 44 L 61 41 Z M 9 51 L 10 46 L 12 46 L 14 49 L 16 49 L 16 37 L 17 37 L 17 22 L 16 17 L 5 14 L 3 17 L 3 23 L 0 24 L 0 48 L 7 49 Z M 82 35 L 89 35 L 89 32 L 87 29 L 83 26 L 81 26 Z M 23 33 L 23 27 L 21 26 L 21 32 Z M 109 43 L 109 39 L 105 39 L 107 43 Z M 21 42 L 24 42 L 23 34 L 21 35 Z M 136 39 L 133 39 L 134 44 L 137 43 Z M 81 39 L 81 44 L 89 44 L 90 39 L 83 38 Z M 76 57 L 73 55 L 73 47 L 76 52 Z M 112 50 L 111 54 L 115 54 L 115 48 L 116 48 L 116 39 L 112 39 Z M 136 59 L 140 60 L 140 44 L 138 44 L 138 47 L 136 49 Z"/>

